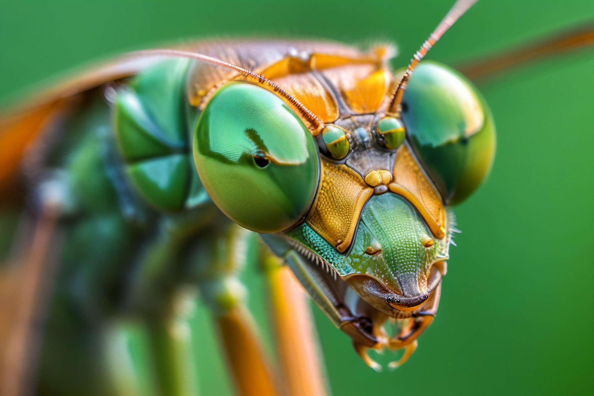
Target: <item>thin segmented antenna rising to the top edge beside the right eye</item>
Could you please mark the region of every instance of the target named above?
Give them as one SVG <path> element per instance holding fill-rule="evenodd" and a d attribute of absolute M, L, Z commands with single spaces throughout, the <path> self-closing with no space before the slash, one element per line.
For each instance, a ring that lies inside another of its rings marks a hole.
<path fill-rule="evenodd" d="M 433 33 L 429 34 L 429 38 L 425 40 L 421 48 L 415 53 L 413 58 L 410 59 L 410 64 L 406 69 L 405 75 L 403 75 L 402 80 L 400 80 L 398 87 L 394 91 L 394 96 L 386 111 L 387 115 L 400 116 L 400 102 L 402 102 L 402 96 L 405 93 L 406 85 L 408 84 L 416 65 L 419 64 L 431 47 L 437 43 L 437 40 L 441 39 L 441 36 L 443 36 L 443 34 L 456 23 L 458 18 L 462 17 L 462 15 L 477 1 L 478 0 L 457 0 L 443 20 L 441 20 L 440 24 L 435 28 Z"/>

